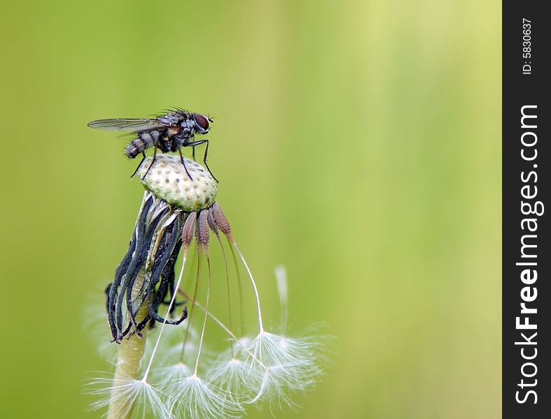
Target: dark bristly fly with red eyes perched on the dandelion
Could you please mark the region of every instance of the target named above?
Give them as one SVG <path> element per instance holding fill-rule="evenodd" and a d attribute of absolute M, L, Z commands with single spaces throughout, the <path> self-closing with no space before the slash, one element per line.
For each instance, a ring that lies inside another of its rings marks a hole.
<path fill-rule="evenodd" d="M 208 133 L 210 122 L 213 122 L 213 120 L 205 115 L 178 109 L 157 118 L 98 119 L 90 122 L 88 126 L 90 126 L 90 128 L 105 129 L 108 131 L 131 131 L 131 133 L 134 133 L 136 137 L 129 142 L 124 150 L 124 154 L 126 154 L 130 159 L 134 159 L 138 156 L 138 154 L 142 154 L 143 158 L 140 165 L 138 165 L 138 168 L 145 159 L 145 150 L 153 147 L 155 150 L 153 159 L 151 160 L 148 170 L 146 170 L 143 175 L 144 178 L 148 174 L 152 164 L 155 163 L 157 149 L 161 149 L 164 153 L 180 153 L 180 161 L 185 168 L 185 172 L 189 176 L 189 179 L 192 179 L 185 166 L 184 158 L 182 156 L 182 147 L 193 147 L 193 158 L 195 159 L 195 146 L 206 144 L 205 154 L 203 155 L 203 163 L 205 163 L 205 166 L 210 174 L 213 175 L 213 172 L 210 171 L 210 168 L 208 168 L 208 164 L 206 162 L 208 154 L 208 140 L 202 139 L 194 141 L 194 135 L 203 135 Z M 136 171 L 137 170 L 138 169 L 136 168 Z M 136 171 L 134 171 L 134 174 L 136 174 Z M 134 176 L 134 174 L 132 176 Z"/>

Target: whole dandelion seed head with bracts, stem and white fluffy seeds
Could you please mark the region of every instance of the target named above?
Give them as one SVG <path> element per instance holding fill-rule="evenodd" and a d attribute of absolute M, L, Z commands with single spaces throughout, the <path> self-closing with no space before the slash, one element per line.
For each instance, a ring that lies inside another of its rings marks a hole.
<path fill-rule="evenodd" d="M 158 154 L 156 161 L 146 159 L 138 169 L 137 177 L 145 176 L 141 182 L 147 191 L 129 249 L 107 291 L 108 326 L 113 341 L 120 343 L 119 361 L 115 378 L 108 381 L 103 399 L 94 406 L 109 404 L 111 416 L 161 419 L 240 418 L 245 404 L 257 402 L 294 407 L 294 393 L 308 390 L 322 374 L 320 344 L 312 338 L 286 336 L 288 288 L 282 267 L 276 270 L 281 332 L 266 332 L 255 279 L 215 202 L 217 183 L 199 164 L 189 159 L 185 164 L 193 179 L 178 156 Z M 209 307 L 211 291 L 219 292 L 215 286 L 211 289 L 217 282 L 211 282 L 215 271 L 211 270 L 210 231 L 224 256 L 229 325 Z M 236 310 L 231 304 L 229 253 L 224 251 L 223 236 L 236 263 L 239 294 L 233 300 L 240 302 L 241 328 L 232 321 Z M 182 261 L 179 274 L 178 260 Z M 192 261 L 191 268 L 186 260 Z M 255 293 L 258 334 L 252 337 L 235 335 L 235 330 L 243 334 L 248 324 L 237 260 Z M 206 291 L 199 292 L 200 286 L 206 286 Z M 204 315 L 197 318 L 192 309 Z M 220 355 L 206 349 L 209 317 L 230 338 L 229 348 Z M 192 327 L 199 324 L 198 330 Z M 125 339 L 134 339 L 134 345 Z"/>

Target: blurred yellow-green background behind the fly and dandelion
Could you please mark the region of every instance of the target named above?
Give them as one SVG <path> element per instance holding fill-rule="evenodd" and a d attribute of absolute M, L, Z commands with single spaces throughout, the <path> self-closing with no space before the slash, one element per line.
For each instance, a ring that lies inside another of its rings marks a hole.
<path fill-rule="evenodd" d="M 218 201 L 278 319 L 334 337 L 279 418 L 501 413 L 498 1 L 3 1 L 2 418 L 92 418 L 86 307 L 141 186 L 92 119 L 208 113 Z M 268 409 L 249 418 L 270 418 Z"/>

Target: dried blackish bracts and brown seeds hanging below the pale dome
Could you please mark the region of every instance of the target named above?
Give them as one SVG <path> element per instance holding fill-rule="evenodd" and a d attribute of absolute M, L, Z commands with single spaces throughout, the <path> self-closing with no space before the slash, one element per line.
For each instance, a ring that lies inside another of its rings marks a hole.
<path fill-rule="evenodd" d="M 222 231 L 232 239 L 229 223 L 217 203 L 199 212 L 185 212 L 145 193 L 128 251 L 106 290 L 113 341 L 120 343 L 124 337 L 141 335 L 141 330 L 155 322 L 178 325 L 187 318 L 187 307 L 175 319 L 159 316 L 159 307 L 168 304 L 178 291 L 174 270 L 178 253 L 182 247 L 187 252 L 194 238 L 198 248 L 207 250 L 210 230 L 216 235 Z M 143 304 L 147 304 L 147 313 L 137 318 Z M 183 304 L 173 304 L 170 314 Z"/>

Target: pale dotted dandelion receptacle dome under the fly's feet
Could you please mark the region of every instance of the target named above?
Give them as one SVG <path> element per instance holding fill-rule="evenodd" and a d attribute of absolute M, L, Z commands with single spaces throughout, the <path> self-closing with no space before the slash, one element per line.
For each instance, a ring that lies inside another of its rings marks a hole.
<path fill-rule="evenodd" d="M 157 198 L 176 205 L 184 211 L 199 211 L 213 205 L 217 183 L 212 175 L 199 163 L 185 159 L 185 168 L 179 156 L 157 154 L 151 164 L 151 157 L 145 159 L 136 172 L 136 177 Z M 149 171 L 148 171 L 149 168 Z M 192 179 L 186 172 L 189 172 Z M 144 179 L 145 172 L 148 171 Z"/>

